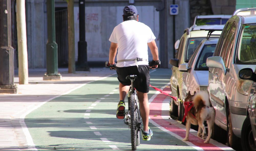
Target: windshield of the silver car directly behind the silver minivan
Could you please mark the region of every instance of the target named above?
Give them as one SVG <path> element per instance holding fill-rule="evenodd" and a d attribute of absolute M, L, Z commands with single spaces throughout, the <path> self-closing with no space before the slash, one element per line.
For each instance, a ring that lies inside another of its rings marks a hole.
<path fill-rule="evenodd" d="M 204 45 L 196 61 L 195 70 L 208 70 L 206 59 L 211 57 L 215 51 L 216 44 Z"/>

